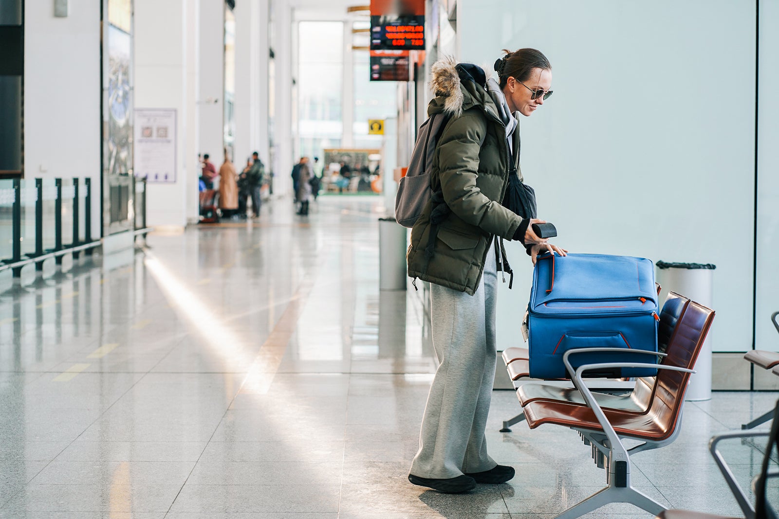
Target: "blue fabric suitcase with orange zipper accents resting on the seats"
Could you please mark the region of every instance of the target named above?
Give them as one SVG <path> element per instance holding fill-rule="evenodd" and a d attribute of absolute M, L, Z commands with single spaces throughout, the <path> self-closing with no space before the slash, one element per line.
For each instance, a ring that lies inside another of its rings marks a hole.
<path fill-rule="evenodd" d="M 573 348 L 624 348 L 657 352 L 654 265 L 645 258 L 606 254 L 546 254 L 538 258 L 528 304 L 530 377 L 568 378 L 562 355 Z M 635 353 L 582 353 L 590 363 L 655 363 Z M 657 370 L 625 368 L 587 377 L 648 377 Z"/>

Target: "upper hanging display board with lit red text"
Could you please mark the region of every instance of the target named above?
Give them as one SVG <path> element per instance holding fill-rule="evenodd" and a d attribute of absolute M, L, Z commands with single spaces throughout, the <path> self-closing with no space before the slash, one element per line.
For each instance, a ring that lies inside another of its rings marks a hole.
<path fill-rule="evenodd" d="M 371 50 L 425 49 L 425 0 L 371 0 Z"/>

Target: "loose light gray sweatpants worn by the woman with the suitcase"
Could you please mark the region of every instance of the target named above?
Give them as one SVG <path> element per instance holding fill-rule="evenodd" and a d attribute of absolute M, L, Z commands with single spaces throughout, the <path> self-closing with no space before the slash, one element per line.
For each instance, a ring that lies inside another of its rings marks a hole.
<path fill-rule="evenodd" d="M 495 468 L 485 427 L 495 379 L 495 247 L 476 293 L 431 285 L 435 371 L 411 474 L 449 479 Z"/>

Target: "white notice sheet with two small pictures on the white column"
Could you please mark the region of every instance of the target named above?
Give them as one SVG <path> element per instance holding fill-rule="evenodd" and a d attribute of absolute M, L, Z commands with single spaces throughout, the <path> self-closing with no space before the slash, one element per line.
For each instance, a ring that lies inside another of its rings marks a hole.
<path fill-rule="evenodd" d="M 176 181 L 176 110 L 136 108 L 135 172 L 147 182 Z"/>

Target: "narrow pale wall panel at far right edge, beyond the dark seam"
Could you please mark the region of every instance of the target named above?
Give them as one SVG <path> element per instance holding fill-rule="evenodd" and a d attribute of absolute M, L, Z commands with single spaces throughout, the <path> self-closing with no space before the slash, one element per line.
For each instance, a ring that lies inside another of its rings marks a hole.
<path fill-rule="evenodd" d="M 779 310 L 779 3 L 760 2 L 757 195 L 757 349 L 779 351 L 770 315 Z M 734 179 L 735 180 L 735 179 Z"/>

